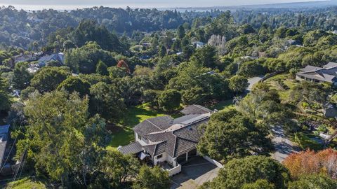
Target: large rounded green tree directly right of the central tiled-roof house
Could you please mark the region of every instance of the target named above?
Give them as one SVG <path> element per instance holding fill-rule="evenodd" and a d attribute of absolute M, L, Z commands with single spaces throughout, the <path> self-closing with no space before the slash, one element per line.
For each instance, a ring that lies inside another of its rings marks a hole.
<path fill-rule="evenodd" d="M 235 109 L 225 109 L 211 116 L 197 149 L 216 160 L 231 160 L 266 152 L 270 147 L 266 130 Z"/>

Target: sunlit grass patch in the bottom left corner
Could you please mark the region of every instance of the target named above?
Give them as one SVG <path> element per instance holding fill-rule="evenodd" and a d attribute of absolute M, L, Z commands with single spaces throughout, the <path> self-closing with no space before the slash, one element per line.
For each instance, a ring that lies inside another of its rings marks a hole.
<path fill-rule="evenodd" d="M 34 189 L 44 189 L 46 186 L 41 181 L 35 181 L 32 178 L 24 178 L 18 181 L 8 183 L 6 188 L 12 189 L 25 189 L 25 188 L 34 188 Z"/>

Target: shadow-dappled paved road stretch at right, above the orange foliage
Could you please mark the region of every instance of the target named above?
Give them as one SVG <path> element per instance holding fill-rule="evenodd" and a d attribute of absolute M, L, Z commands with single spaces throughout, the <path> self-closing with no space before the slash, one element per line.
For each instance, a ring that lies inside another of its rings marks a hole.
<path fill-rule="evenodd" d="M 281 126 L 275 126 L 272 129 L 272 132 L 274 133 L 272 144 L 275 146 L 275 153 L 272 154 L 273 159 L 283 162 L 289 154 L 300 151 L 297 144 L 293 143 L 285 136 Z"/>

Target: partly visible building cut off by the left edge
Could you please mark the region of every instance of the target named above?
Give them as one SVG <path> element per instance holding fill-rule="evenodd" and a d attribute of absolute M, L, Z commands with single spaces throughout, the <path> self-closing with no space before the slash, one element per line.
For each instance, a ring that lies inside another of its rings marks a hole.
<path fill-rule="evenodd" d="M 9 125 L 1 125 L 0 126 L 0 166 L 4 167 L 1 170 L 2 175 L 11 174 L 11 165 L 6 165 L 5 157 L 6 157 L 6 146 L 8 141 L 8 131 Z"/>

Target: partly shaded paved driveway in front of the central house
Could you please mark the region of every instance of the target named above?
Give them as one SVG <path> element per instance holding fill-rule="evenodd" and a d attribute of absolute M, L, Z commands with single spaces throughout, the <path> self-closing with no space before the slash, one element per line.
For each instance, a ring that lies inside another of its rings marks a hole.
<path fill-rule="evenodd" d="M 218 175 L 219 169 L 204 158 L 196 157 L 183 165 L 180 174 L 173 176 L 171 189 L 198 188 L 202 183 L 213 180 Z"/>

